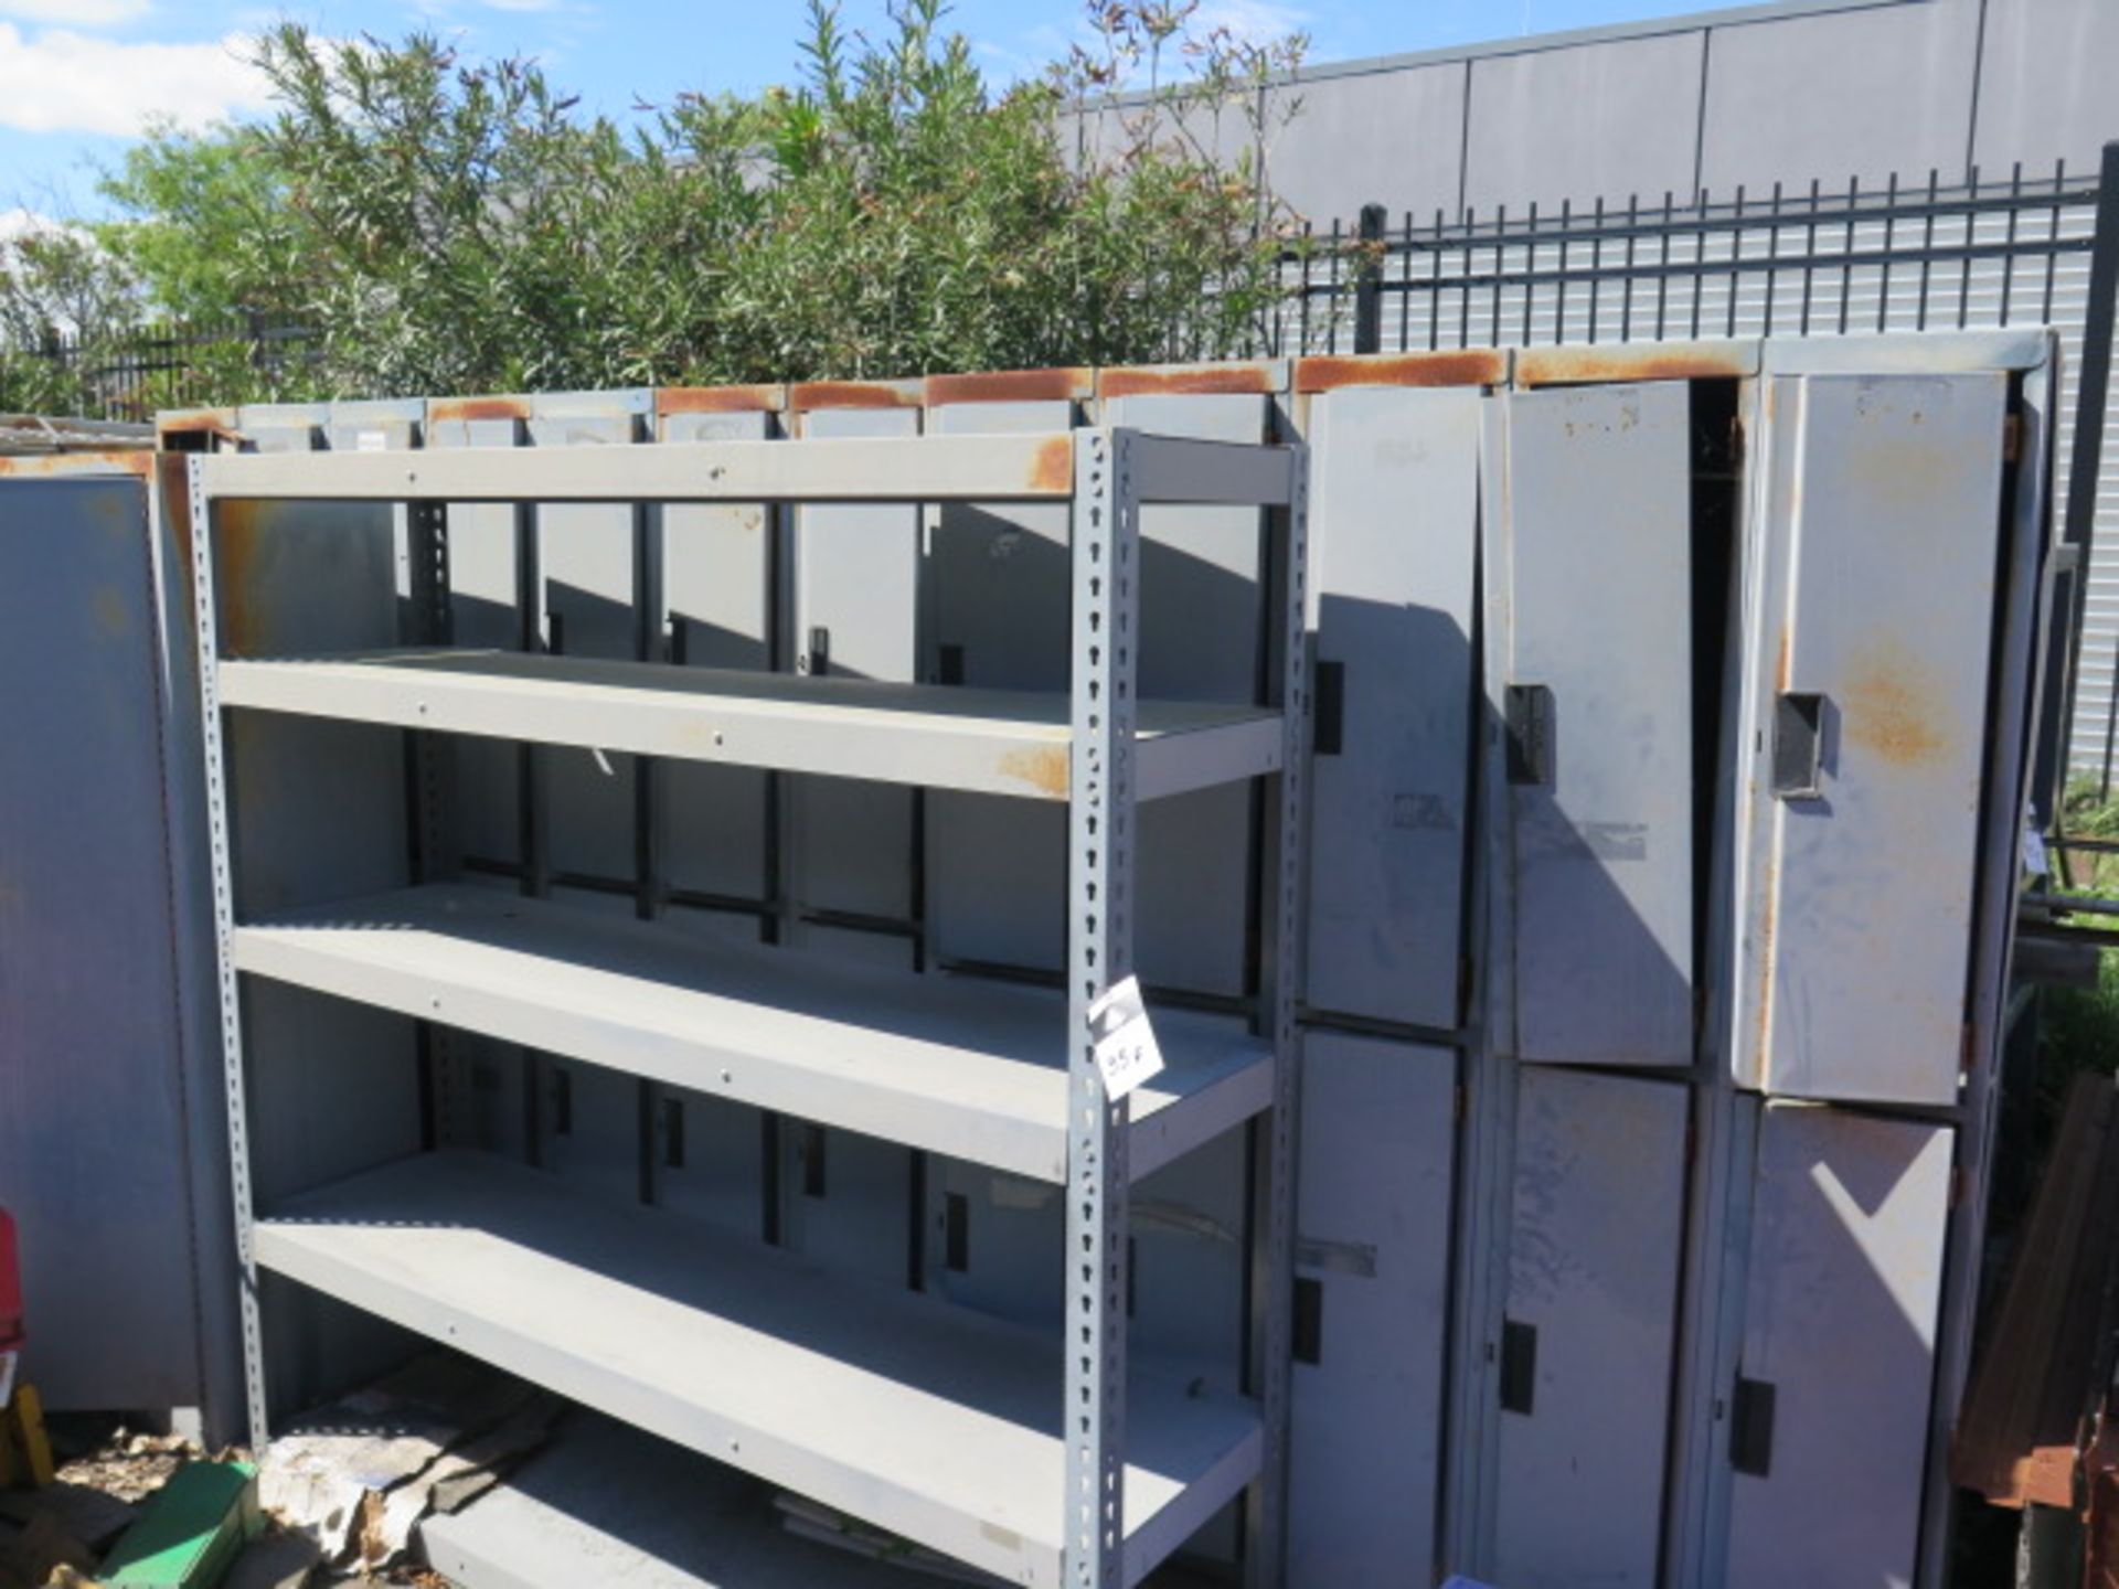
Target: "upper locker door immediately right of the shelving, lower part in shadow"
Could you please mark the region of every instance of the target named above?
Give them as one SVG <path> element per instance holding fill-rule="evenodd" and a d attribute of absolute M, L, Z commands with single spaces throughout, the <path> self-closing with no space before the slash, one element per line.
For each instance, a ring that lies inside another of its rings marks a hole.
<path fill-rule="evenodd" d="M 1316 657 L 1339 712 L 1310 780 L 1307 1002 L 1439 1030 L 1460 1015 L 1479 403 L 1371 386 L 1310 405 Z"/>

